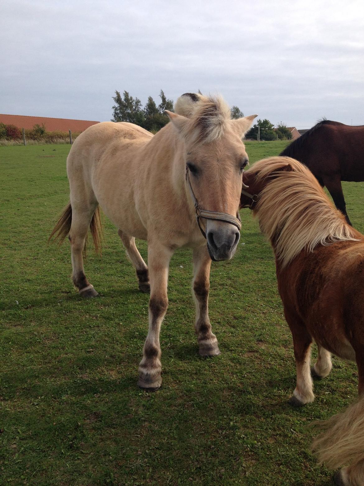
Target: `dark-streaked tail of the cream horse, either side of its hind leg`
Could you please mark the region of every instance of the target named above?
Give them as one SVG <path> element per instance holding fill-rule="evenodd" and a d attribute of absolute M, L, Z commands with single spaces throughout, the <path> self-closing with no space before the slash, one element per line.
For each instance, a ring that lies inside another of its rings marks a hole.
<path fill-rule="evenodd" d="M 62 244 L 66 236 L 69 234 L 72 223 L 72 207 L 69 202 L 66 208 L 63 210 L 61 216 L 59 217 L 56 226 L 54 226 L 53 231 L 50 233 L 48 238 L 48 243 L 54 237 L 54 241 L 58 240 L 58 245 Z M 101 241 L 102 241 L 102 223 L 99 206 L 95 209 L 92 215 L 90 223 L 90 231 L 92 235 L 92 240 L 94 242 L 96 253 L 101 253 Z M 83 255 L 86 256 L 86 240 L 83 246 Z"/>

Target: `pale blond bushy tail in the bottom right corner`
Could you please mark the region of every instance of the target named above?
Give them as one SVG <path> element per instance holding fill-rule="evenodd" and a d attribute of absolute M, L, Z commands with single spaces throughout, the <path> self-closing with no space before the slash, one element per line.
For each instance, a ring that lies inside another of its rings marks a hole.
<path fill-rule="evenodd" d="M 354 465 L 364 460 L 364 394 L 350 404 L 347 409 L 314 426 L 321 434 L 314 438 L 312 450 L 317 454 L 320 464 L 330 469 Z M 364 481 L 364 478 L 362 478 Z M 362 485 L 355 482 L 352 485 Z"/>

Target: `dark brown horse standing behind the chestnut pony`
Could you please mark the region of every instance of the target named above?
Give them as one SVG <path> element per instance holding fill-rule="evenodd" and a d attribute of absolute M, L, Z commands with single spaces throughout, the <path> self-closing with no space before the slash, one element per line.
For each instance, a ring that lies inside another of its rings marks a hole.
<path fill-rule="evenodd" d="M 294 140 L 280 155 L 304 163 L 321 186 L 327 187 L 336 208 L 350 225 L 341 181 L 364 181 L 363 154 L 364 125 L 323 120 Z"/>

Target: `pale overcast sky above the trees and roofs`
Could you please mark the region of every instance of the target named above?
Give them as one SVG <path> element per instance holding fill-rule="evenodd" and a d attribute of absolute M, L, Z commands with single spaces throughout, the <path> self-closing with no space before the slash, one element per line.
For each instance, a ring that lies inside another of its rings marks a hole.
<path fill-rule="evenodd" d="M 275 124 L 364 124 L 362 0 L 12 0 L 0 32 L 0 113 L 106 121 L 116 89 L 200 89 Z"/>

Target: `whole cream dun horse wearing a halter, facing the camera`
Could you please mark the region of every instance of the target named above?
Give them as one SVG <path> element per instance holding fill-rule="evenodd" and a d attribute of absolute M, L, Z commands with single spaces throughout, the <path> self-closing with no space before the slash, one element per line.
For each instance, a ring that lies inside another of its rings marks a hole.
<path fill-rule="evenodd" d="M 231 259 L 240 238 L 248 163 L 242 137 L 257 116 L 231 120 L 221 98 L 193 93 L 182 95 L 175 110 L 167 111 L 171 122 L 154 136 L 126 122 L 87 128 L 68 155 L 70 203 L 51 234 L 61 241 L 68 235 L 73 283 L 83 297 L 95 297 L 83 271 L 83 248 L 89 227 L 99 246 L 99 206 L 118 228 L 140 290 L 150 291 L 138 381 L 149 391 L 162 384 L 159 333 L 168 306 L 168 266 L 182 246 L 193 249 L 199 354 L 220 354 L 208 315 L 210 265 L 211 259 Z M 148 267 L 135 238 L 148 241 Z"/>

